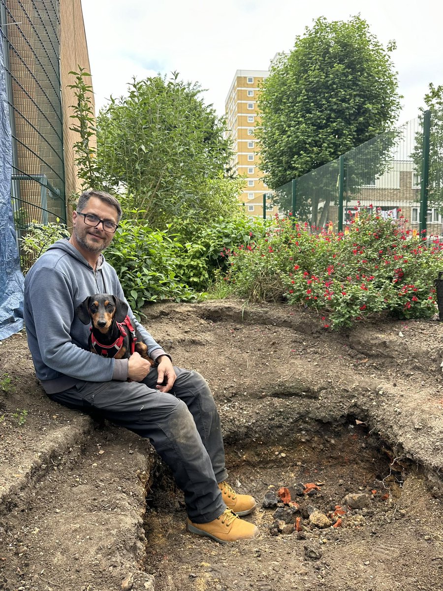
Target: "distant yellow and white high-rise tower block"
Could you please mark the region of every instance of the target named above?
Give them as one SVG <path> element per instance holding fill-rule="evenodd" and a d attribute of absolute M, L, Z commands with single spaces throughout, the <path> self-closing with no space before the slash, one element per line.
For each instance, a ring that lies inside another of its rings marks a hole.
<path fill-rule="evenodd" d="M 232 138 L 234 156 L 231 165 L 239 176 L 246 177 L 246 187 L 239 199 L 250 216 L 263 216 L 263 184 L 260 170 L 260 146 L 256 128 L 260 125 L 257 99 L 260 84 L 269 75 L 268 70 L 237 70 L 226 97 L 225 111 L 228 134 Z M 269 200 L 268 200 L 269 203 Z M 266 216 L 277 212 L 268 204 Z"/>

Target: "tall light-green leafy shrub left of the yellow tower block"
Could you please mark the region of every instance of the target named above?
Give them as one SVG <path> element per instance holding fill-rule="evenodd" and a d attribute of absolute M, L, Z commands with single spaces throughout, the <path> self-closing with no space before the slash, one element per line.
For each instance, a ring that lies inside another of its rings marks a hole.
<path fill-rule="evenodd" d="M 172 217 L 206 222 L 211 209 L 239 209 L 239 183 L 223 176 L 231 153 L 224 119 L 200 95 L 198 84 L 177 73 L 133 80 L 127 95 L 110 99 L 97 116 L 99 184 L 118 190 L 125 209 L 151 225 Z"/>

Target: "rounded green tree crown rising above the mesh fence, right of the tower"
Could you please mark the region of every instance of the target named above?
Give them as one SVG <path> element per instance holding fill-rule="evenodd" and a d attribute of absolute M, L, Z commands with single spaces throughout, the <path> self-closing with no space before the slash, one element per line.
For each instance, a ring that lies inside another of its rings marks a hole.
<path fill-rule="evenodd" d="M 276 58 L 259 97 L 269 187 L 334 160 L 395 122 L 401 97 L 389 56 L 394 48 L 390 42 L 385 49 L 359 16 L 347 22 L 320 17 L 295 38 L 289 54 Z"/>

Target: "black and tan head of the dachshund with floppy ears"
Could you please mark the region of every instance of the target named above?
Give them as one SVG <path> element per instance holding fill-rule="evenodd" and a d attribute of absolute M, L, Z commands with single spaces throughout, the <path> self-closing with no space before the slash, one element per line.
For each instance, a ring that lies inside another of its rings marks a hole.
<path fill-rule="evenodd" d="M 94 294 L 77 307 L 76 314 L 83 324 L 92 323 L 94 329 L 106 335 L 114 320 L 125 320 L 128 304 L 112 294 Z"/>

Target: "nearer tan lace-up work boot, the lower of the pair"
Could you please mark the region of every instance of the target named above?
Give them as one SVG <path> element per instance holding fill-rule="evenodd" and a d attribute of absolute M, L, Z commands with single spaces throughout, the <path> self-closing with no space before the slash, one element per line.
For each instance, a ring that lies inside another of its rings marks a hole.
<path fill-rule="evenodd" d="M 207 535 L 207 537 L 220 542 L 220 544 L 237 540 L 249 540 L 249 538 L 255 538 L 259 535 L 259 530 L 255 525 L 243 521 L 230 509 L 224 509 L 220 517 L 209 523 L 193 523 L 188 519 L 186 529 L 193 534 Z"/>

